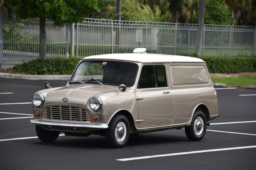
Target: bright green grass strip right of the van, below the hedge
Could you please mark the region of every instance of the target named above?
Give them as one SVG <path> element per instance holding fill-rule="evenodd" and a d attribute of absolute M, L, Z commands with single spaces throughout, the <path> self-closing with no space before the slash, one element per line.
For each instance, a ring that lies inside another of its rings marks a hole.
<path fill-rule="evenodd" d="M 256 77 L 212 78 L 212 82 L 226 83 L 231 87 L 246 87 L 247 85 L 256 85 Z"/>

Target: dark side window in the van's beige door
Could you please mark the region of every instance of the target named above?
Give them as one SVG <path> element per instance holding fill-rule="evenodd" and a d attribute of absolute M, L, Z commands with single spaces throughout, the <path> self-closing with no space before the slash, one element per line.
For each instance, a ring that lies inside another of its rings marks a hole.
<path fill-rule="evenodd" d="M 156 87 L 167 87 L 165 67 L 163 65 L 143 66 L 137 88 Z"/>

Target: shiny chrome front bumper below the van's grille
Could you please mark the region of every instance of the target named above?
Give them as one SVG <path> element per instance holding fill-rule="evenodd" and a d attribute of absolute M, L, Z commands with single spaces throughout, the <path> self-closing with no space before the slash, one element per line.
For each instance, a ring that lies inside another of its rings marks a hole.
<path fill-rule="evenodd" d="M 109 126 L 106 124 L 77 124 L 77 123 L 57 123 L 57 122 L 43 122 L 37 120 L 30 120 L 30 124 L 49 125 L 49 126 L 68 126 L 78 128 L 92 128 L 92 129 L 107 129 Z"/>

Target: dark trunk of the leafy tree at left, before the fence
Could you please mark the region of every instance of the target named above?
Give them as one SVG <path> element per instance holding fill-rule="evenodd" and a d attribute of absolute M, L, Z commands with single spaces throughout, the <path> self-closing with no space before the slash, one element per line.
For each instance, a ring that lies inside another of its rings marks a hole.
<path fill-rule="evenodd" d="M 45 50 L 45 43 L 46 43 L 46 32 L 45 32 L 45 18 L 40 18 L 39 19 L 39 28 L 40 28 L 40 33 L 39 33 L 39 60 L 43 60 L 46 55 L 46 50 Z"/>

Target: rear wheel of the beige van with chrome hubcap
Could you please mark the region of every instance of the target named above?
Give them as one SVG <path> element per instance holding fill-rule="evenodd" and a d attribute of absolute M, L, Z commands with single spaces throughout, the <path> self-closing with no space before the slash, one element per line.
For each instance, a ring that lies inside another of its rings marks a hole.
<path fill-rule="evenodd" d="M 185 128 L 186 136 L 189 140 L 199 141 L 206 132 L 206 117 L 200 110 L 193 115 L 191 124 Z"/>

